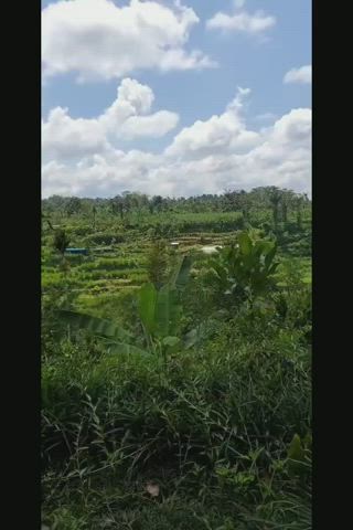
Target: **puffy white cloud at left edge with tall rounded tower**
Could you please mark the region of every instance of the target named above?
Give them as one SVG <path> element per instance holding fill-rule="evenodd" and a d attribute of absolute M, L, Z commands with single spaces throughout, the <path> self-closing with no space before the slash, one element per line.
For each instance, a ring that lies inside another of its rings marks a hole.
<path fill-rule="evenodd" d="M 164 136 L 176 126 L 179 116 L 168 110 L 149 114 L 153 99 L 149 86 L 125 78 L 115 102 L 97 118 L 74 119 L 67 108 L 52 109 L 42 123 L 44 160 L 77 160 L 105 152 L 117 140 Z"/>

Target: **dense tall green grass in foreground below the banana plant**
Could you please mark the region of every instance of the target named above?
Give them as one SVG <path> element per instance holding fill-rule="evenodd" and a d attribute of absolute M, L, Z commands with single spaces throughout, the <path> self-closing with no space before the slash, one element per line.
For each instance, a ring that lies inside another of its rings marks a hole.
<path fill-rule="evenodd" d="M 309 528 L 300 526 L 296 507 L 306 518 L 310 473 L 296 477 L 286 467 L 293 435 L 304 437 L 311 427 L 308 351 L 280 330 L 261 341 L 260 329 L 247 341 L 234 340 L 234 325 L 220 330 L 217 348 L 213 341 L 199 354 L 175 356 L 167 370 L 151 358 L 107 357 L 85 337 L 52 346 L 43 365 L 49 512 L 64 502 L 67 488 L 79 505 L 94 484 L 99 495 L 104 484 L 109 497 L 106 485 L 113 483 L 125 491 L 115 511 L 126 513 L 126 497 L 136 515 L 148 498 L 143 485 L 152 480 L 167 512 L 174 499 L 186 517 L 191 492 L 201 506 L 214 506 L 212 516 L 203 508 L 200 520 L 196 507 L 189 513 L 195 523 L 210 520 L 210 528 L 227 511 L 232 521 L 253 524 L 245 528 Z M 60 473 L 53 471 L 58 464 Z M 142 498 L 133 509 L 133 499 Z M 162 521 L 172 519 L 149 506 L 138 516 L 146 522 L 131 528 L 149 528 L 154 510 L 160 528 L 168 528 Z"/>

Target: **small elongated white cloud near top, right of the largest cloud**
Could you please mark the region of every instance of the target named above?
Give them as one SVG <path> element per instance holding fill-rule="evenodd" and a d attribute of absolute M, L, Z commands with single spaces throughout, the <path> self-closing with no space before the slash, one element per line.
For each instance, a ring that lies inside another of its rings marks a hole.
<path fill-rule="evenodd" d="M 276 18 L 257 11 L 254 14 L 247 11 L 237 11 L 232 14 L 218 11 L 206 21 L 206 28 L 210 30 L 221 30 L 223 32 L 239 32 L 248 34 L 261 34 L 276 24 Z"/>

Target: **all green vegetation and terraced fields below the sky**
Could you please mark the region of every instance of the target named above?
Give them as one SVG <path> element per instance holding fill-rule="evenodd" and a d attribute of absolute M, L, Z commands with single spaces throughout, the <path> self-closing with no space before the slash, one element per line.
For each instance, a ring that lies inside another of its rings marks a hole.
<path fill-rule="evenodd" d="M 43 524 L 311 529 L 311 202 L 42 209 Z"/>

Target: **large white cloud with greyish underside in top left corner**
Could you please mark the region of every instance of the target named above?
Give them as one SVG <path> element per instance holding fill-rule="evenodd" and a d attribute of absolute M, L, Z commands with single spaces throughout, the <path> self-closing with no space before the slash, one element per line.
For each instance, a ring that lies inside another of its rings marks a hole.
<path fill-rule="evenodd" d="M 195 12 L 174 2 L 60 0 L 42 10 L 43 77 L 74 72 L 79 82 L 122 77 L 137 70 L 214 66 L 186 51 Z"/>

